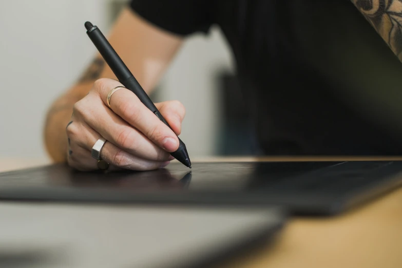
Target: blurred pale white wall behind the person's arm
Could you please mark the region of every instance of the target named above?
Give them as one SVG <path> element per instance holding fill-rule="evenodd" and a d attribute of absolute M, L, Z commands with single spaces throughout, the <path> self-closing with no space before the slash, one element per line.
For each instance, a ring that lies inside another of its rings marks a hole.
<path fill-rule="evenodd" d="M 95 49 L 83 24 L 92 21 L 107 33 L 111 1 L 0 1 L 0 158 L 48 161 L 46 110 L 92 59 Z M 214 154 L 217 68 L 232 70 L 233 64 L 214 29 L 207 37 L 190 37 L 161 82 L 161 98 L 187 108 L 181 137 L 192 156 Z"/>

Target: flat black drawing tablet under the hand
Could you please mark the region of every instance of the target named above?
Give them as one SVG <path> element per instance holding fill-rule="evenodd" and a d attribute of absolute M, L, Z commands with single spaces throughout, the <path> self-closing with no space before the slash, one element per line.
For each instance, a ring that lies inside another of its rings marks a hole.
<path fill-rule="evenodd" d="M 0 199 L 192 205 L 279 205 L 334 214 L 402 184 L 400 161 L 196 163 L 81 173 L 53 165 L 0 174 Z"/>

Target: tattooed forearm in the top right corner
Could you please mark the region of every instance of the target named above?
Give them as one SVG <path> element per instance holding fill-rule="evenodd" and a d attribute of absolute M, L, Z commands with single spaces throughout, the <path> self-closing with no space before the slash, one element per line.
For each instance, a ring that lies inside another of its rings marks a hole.
<path fill-rule="evenodd" d="M 351 0 L 402 61 L 402 0 Z"/>

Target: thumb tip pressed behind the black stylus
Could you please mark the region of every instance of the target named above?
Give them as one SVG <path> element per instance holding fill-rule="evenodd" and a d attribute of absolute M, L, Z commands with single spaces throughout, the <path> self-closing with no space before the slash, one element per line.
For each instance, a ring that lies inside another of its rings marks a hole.
<path fill-rule="evenodd" d="M 181 123 L 186 113 L 183 104 L 179 101 L 166 101 L 156 103 L 155 106 L 161 112 L 162 116 L 176 135 L 180 135 Z"/>

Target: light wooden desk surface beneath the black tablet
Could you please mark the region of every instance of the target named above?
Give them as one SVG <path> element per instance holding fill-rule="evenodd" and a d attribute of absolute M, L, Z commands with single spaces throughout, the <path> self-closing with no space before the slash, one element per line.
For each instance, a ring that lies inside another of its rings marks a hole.
<path fill-rule="evenodd" d="M 402 160 L 402 158 L 198 159 L 198 161 L 255 160 Z M 228 260 L 220 267 L 401 268 L 402 188 L 341 216 L 322 219 L 293 218 L 283 229 L 276 243 L 259 248 L 246 256 Z"/>

